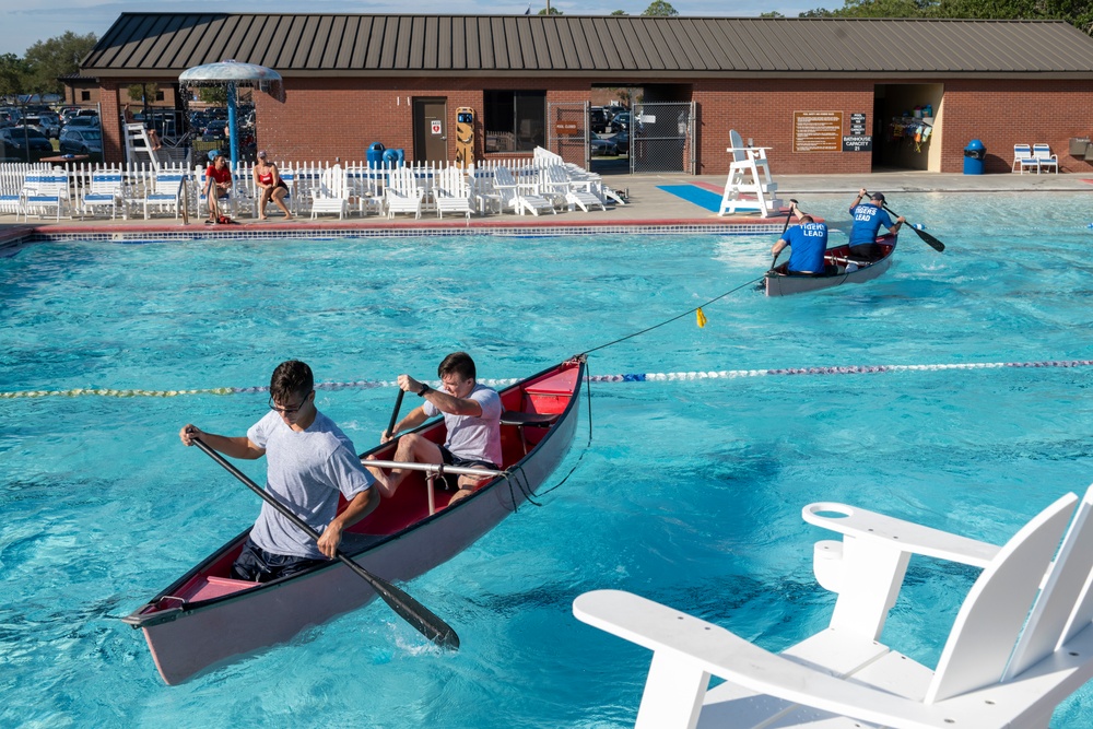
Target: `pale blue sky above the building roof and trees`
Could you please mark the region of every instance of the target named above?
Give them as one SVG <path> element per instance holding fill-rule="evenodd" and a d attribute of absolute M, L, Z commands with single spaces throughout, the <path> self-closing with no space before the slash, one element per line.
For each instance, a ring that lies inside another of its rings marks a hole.
<path fill-rule="evenodd" d="M 622 10 L 640 15 L 653 0 L 551 0 L 551 7 L 566 15 L 608 15 Z M 818 7 L 842 8 L 842 0 L 669 0 L 681 15 L 759 15 L 776 10 L 796 16 Z M 262 3 L 231 3 L 224 0 L 0 0 L 0 54 L 23 56 L 38 40 L 46 40 L 66 31 L 77 35 L 94 33 L 97 37 L 109 30 L 124 12 L 262 12 L 262 13 L 421 13 L 440 12 L 461 15 L 522 15 L 528 0 L 391 0 L 379 2 L 346 2 L 345 0 L 266 0 Z M 545 0 L 534 0 L 531 12 L 546 7 Z"/>

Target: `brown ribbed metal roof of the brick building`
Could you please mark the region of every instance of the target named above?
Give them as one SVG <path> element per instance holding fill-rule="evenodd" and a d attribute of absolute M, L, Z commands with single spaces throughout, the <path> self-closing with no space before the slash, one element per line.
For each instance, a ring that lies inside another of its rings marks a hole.
<path fill-rule="evenodd" d="M 177 75 L 234 58 L 293 75 L 1093 78 L 1061 21 L 122 13 L 81 70 Z"/>

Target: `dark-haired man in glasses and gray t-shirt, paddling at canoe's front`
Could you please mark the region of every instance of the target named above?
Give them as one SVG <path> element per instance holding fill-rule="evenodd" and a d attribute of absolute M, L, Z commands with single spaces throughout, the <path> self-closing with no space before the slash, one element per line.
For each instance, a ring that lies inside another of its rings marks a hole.
<path fill-rule="evenodd" d="M 187 446 L 201 438 L 232 458 L 266 456 L 266 491 L 321 532 L 316 543 L 263 503 L 243 553 L 232 566 L 236 579 L 258 583 L 333 558 L 342 530 L 379 504 L 374 480 L 361 466 L 352 440 L 316 410 L 310 367 L 295 360 L 278 365 L 270 379 L 270 410 L 246 436 L 213 435 L 193 425 L 179 433 Z M 339 494 L 349 502 L 341 514 Z"/>

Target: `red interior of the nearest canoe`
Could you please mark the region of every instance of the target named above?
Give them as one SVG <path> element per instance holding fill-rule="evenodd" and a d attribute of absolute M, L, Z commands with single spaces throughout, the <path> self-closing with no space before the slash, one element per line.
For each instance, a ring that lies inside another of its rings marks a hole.
<path fill-rule="evenodd" d="M 524 459 L 549 433 L 549 427 L 542 425 L 517 424 L 512 421 L 521 420 L 519 413 L 562 414 L 569 404 L 573 393 L 577 390 L 577 378 L 580 372 L 579 363 L 567 362 L 500 392 L 502 408 L 505 411 L 501 426 L 501 445 L 504 458 L 504 463 L 500 465 L 502 468 L 508 468 Z M 514 413 L 516 414 L 514 415 Z M 509 422 L 506 423 L 506 421 Z M 434 443 L 443 444 L 446 436 L 444 420 L 426 423 L 419 428 L 419 433 Z M 388 443 L 368 452 L 375 455 L 379 460 L 392 460 L 395 447 L 395 443 Z M 446 478 L 455 486 L 456 477 L 447 475 Z M 443 512 L 455 494 L 455 489 L 446 490 L 443 486 L 440 479 L 437 478 L 434 494 L 437 514 Z M 484 487 L 489 487 L 489 485 Z M 338 506 L 339 513 L 344 507 L 345 499 L 343 497 Z M 368 544 L 396 534 L 428 516 L 425 475 L 421 471 L 411 471 L 399 485 L 399 490 L 392 498 L 383 499 L 372 514 L 345 530 L 342 550 L 348 554 L 354 554 Z M 243 532 L 224 549 L 213 554 L 181 585 L 168 588 L 164 596 L 144 605 L 139 614 L 151 615 L 158 611 L 177 609 L 184 604 L 222 598 L 258 587 L 258 583 L 242 581 L 231 577 L 232 564 L 243 550 L 247 533 Z"/>

